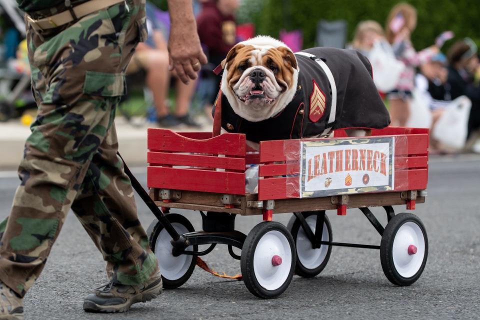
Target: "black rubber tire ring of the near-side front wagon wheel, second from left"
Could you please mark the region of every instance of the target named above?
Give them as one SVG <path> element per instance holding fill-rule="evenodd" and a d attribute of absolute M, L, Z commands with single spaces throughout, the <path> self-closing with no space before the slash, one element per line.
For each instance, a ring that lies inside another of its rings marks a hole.
<path fill-rule="evenodd" d="M 280 233 L 282 233 L 287 238 L 291 251 L 291 265 L 288 276 L 285 282 L 283 282 L 280 287 L 274 290 L 268 290 L 261 286 L 260 283 L 258 283 L 253 266 L 253 256 L 255 253 L 256 245 L 258 244 L 260 238 L 269 231 L 279 231 Z M 263 299 L 271 299 L 277 297 L 288 288 L 288 285 L 290 284 L 293 277 L 295 261 L 296 252 L 294 248 L 294 242 L 287 228 L 279 222 L 260 222 L 255 225 L 253 229 L 251 229 L 251 231 L 247 234 L 245 242 L 243 243 L 243 247 L 241 249 L 240 269 L 243 276 L 243 282 L 245 283 L 245 286 L 248 288 L 248 290 L 257 297 Z"/>

